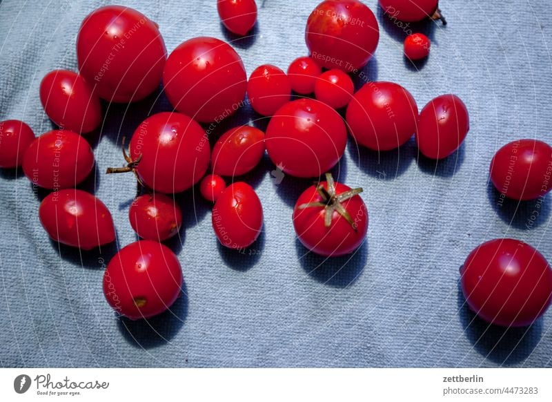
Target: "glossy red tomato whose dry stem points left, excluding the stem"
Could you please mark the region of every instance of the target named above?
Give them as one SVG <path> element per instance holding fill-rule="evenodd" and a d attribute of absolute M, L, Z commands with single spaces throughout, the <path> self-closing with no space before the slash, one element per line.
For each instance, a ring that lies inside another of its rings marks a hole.
<path fill-rule="evenodd" d="M 201 126 L 181 113 L 162 112 L 142 122 L 130 141 L 141 181 L 159 193 L 180 193 L 199 182 L 209 166 L 210 147 Z"/>

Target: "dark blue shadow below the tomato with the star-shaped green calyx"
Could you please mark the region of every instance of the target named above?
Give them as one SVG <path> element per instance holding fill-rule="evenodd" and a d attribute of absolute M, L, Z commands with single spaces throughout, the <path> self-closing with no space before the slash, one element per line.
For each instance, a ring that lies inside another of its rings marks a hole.
<path fill-rule="evenodd" d="M 368 260 L 368 242 L 348 256 L 323 257 L 308 251 L 304 245 L 295 239 L 297 258 L 308 276 L 324 285 L 346 288 L 362 275 Z"/>

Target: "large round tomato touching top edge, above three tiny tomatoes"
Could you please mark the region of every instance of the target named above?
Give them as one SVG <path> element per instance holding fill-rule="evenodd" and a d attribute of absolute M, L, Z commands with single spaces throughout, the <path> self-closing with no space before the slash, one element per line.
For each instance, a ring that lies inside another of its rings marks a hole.
<path fill-rule="evenodd" d="M 306 23 L 306 46 L 322 67 L 354 71 L 368 64 L 380 40 L 374 13 L 357 0 L 322 1 Z"/>

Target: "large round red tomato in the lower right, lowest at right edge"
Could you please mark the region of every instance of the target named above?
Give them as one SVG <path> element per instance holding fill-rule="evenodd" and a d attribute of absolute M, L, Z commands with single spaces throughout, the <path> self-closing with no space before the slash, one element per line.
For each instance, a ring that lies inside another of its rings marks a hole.
<path fill-rule="evenodd" d="M 520 240 L 496 239 L 476 247 L 460 270 L 469 307 L 489 323 L 531 325 L 552 300 L 552 269 Z"/>

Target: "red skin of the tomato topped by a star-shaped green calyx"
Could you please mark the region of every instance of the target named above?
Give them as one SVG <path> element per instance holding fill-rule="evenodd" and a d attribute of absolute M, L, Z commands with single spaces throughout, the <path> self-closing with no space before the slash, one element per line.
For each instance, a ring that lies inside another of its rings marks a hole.
<path fill-rule="evenodd" d="M 328 189 L 328 183 L 322 182 L 322 186 Z M 340 194 L 351 190 L 345 184 L 335 183 L 335 193 Z M 333 212 L 330 227 L 324 225 L 324 208 L 309 207 L 299 209 L 299 205 L 309 202 L 320 202 L 322 197 L 316 191 L 315 186 L 306 189 L 297 200 L 293 209 L 293 227 L 297 238 L 309 250 L 326 257 L 344 256 L 357 249 L 368 231 L 368 209 L 360 197 L 355 195 L 353 198 L 342 202 L 343 207 L 353 218 L 357 231 L 349 224 L 345 218 L 336 211 Z"/>

